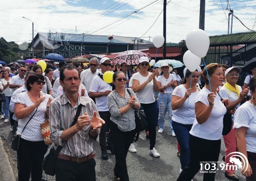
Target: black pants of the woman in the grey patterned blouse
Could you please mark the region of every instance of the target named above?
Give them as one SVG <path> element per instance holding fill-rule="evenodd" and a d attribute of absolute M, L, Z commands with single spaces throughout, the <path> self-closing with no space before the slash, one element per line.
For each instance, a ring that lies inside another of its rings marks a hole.
<path fill-rule="evenodd" d="M 135 135 L 135 131 L 122 132 L 117 124 L 112 121 L 109 123 L 109 127 L 113 136 L 113 147 L 115 151 L 114 175 L 119 177 L 121 181 L 129 181 L 126 156 Z"/>

